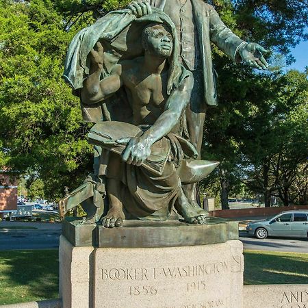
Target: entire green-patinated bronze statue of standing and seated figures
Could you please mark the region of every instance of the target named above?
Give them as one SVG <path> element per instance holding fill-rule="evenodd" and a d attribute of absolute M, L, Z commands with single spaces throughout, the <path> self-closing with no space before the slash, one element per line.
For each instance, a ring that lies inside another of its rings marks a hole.
<path fill-rule="evenodd" d="M 193 195 L 218 166 L 200 160 L 203 102 L 216 104 L 209 40 L 233 60 L 267 64 L 261 47 L 232 34 L 210 5 L 177 0 L 171 10 L 173 2 L 131 3 L 71 42 L 64 79 L 84 120 L 96 123 L 89 133 L 95 158 L 94 172 L 60 201 L 62 216 L 81 203 L 84 223 L 105 227 L 167 220 L 172 209 L 185 222 L 206 222 Z"/>

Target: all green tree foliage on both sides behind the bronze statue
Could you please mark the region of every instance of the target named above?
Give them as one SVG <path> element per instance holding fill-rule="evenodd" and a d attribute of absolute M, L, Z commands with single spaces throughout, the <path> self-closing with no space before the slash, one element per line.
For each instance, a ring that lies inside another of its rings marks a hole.
<path fill-rule="evenodd" d="M 68 44 L 79 29 L 128 2 L 0 0 L 0 165 L 29 175 L 29 183 L 40 179 L 46 198 L 62 196 L 64 185 L 75 188 L 92 169 L 90 126 L 61 78 Z M 211 3 L 235 34 L 288 62 L 290 47 L 307 37 L 305 1 Z M 305 202 L 307 186 L 298 181 L 307 170 L 307 75 L 260 74 L 232 64 L 216 47 L 213 57 L 219 105 L 207 112 L 202 155 L 220 168 L 201 186 L 209 185 L 208 196 L 223 187 L 223 200 L 244 182 L 254 193 Z"/>

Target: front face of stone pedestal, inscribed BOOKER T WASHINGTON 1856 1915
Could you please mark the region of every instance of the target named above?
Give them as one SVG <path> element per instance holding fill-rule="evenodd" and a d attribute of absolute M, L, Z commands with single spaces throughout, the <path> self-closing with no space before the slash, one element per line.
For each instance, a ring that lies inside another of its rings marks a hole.
<path fill-rule="evenodd" d="M 98 248 L 94 307 L 242 307 L 242 243 Z"/>

